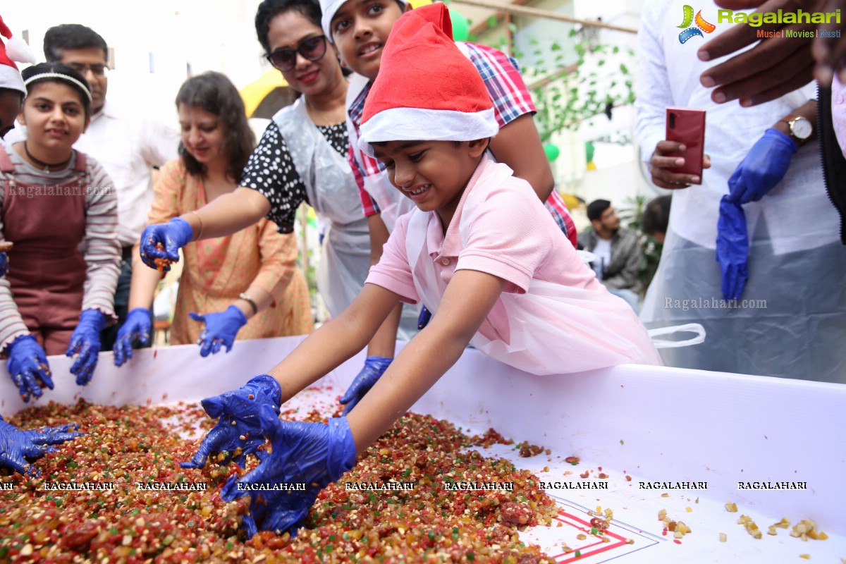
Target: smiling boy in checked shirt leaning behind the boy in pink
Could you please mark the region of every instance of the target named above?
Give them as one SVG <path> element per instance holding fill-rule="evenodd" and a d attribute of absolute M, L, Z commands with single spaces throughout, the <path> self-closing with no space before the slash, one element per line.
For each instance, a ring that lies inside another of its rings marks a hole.
<path fill-rule="evenodd" d="M 360 151 L 357 142 L 365 100 L 379 73 L 387 38 L 400 15 L 409 9 L 405 0 L 321 0 L 323 33 L 332 41 L 343 63 L 357 73 L 349 77 L 347 90 L 349 164 L 359 186 L 365 216 L 368 217 L 371 264 L 375 264 L 382 255 L 382 248 L 397 218 L 412 207 L 409 200 L 393 189 L 382 163 Z M 493 101 L 493 115 L 499 134 L 491 142 L 492 155 L 511 167 L 515 176 L 530 183 L 536 197 L 545 202 L 547 211 L 575 247 L 575 226 L 567 206 L 554 189 L 552 169 L 532 119 L 535 105 L 517 62 L 492 47 L 464 41 L 456 45 L 484 79 L 487 93 Z M 417 53 L 409 53 L 409 56 L 414 58 Z M 388 318 L 382 331 L 369 344 L 364 370 L 341 397 L 341 402 L 347 404 L 346 412 L 364 396 L 393 360 L 398 311 Z M 426 304 L 422 304 L 419 327 L 426 325 L 429 315 Z"/>

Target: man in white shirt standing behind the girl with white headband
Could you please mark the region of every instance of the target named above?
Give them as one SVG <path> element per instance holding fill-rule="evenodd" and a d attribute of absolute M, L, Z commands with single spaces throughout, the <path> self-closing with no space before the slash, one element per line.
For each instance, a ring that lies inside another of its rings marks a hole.
<path fill-rule="evenodd" d="M 132 280 L 132 246 L 146 227 L 153 199 L 152 172 L 177 158 L 179 133 L 155 120 L 118 112 L 106 101 L 108 49 L 91 28 L 57 25 L 44 35 L 48 63 L 63 63 L 80 71 L 91 85 L 91 125 L 74 149 L 93 156 L 112 178 L 118 194 L 118 240 L 123 248 L 118 289 L 114 297 L 118 324 L 103 331 L 102 348 L 112 348 L 117 329 L 126 320 Z"/>

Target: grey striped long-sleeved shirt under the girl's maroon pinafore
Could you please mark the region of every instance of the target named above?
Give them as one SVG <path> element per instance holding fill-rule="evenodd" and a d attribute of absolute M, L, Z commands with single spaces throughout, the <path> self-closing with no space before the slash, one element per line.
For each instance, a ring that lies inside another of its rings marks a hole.
<path fill-rule="evenodd" d="M 49 175 L 25 162 L 9 143 L 4 143 L 9 159 L 14 165 L 14 180 L 18 184 L 30 184 L 28 188 L 49 194 L 49 189 L 58 184 L 70 183 L 76 178 L 76 152 L 68 167 Z M 85 237 L 81 245 L 82 256 L 88 265 L 83 287 L 82 311 L 98 309 L 110 320 L 114 315 L 114 291 L 120 275 L 120 244 L 118 243 L 118 197 L 112 180 L 103 167 L 91 156 L 86 156 L 86 170 L 89 184 L 85 190 Z M 0 186 L 7 186 L 12 175 L 0 172 Z M 24 187 L 19 186 L 19 189 Z M 6 190 L 0 189 L 0 209 L 6 198 Z M 2 216 L 0 216 L 2 217 Z M 3 237 L 3 221 L 0 218 L 0 240 Z M 14 268 L 14 262 L 11 266 Z M 29 334 L 9 289 L 8 280 L 0 278 L 0 351 L 6 352 L 15 338 Z"/>

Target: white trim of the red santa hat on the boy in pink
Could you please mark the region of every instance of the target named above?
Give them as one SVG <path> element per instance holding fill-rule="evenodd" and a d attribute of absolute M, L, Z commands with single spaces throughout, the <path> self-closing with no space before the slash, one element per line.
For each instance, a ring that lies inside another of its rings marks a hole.
<path fill-rule="evenodd" d="M 499 131 L 493 108 L 481 112 L 393 107 L 361 124 L 359 149 L 373 156 L 378 141 L 472 141 Z"/>

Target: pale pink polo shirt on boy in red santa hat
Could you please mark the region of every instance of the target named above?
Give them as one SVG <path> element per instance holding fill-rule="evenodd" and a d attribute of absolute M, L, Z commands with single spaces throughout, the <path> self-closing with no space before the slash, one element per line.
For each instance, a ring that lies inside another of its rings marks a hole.
<path fill-rule="evenodd" d="M 448 283 L 454 271 L 465 269 L 502 278 L 505 292 L 525 293 L 532 279 L 606 292 L 541 200 L 529 197 L 534 194 L 529 183 L 514 176 L 492 186 L 486 185 L 484 178 L 477 182 L 484 172 L 493 172 L 488 170 L 491 167 L 508 168 L 490 158 L 482 159 L 461 196 L 446 236 L 442 235 L 440 218 L 434 211 L 429 212 L 426 249 L 442 281 Z M 484 190 L 486 197 L 471 218 L 467 244 L 462 249 L 459 222 L 470 190 Z M 387 288 L 415 304 L 419 297 L 405 246 L 410 217 L 409 213 L 398 219 L 382 260 L 371 267 L 365 282 Z M 494 326 L 497 312 L 504 313 L 494 308 L 488 317 Z"/>

